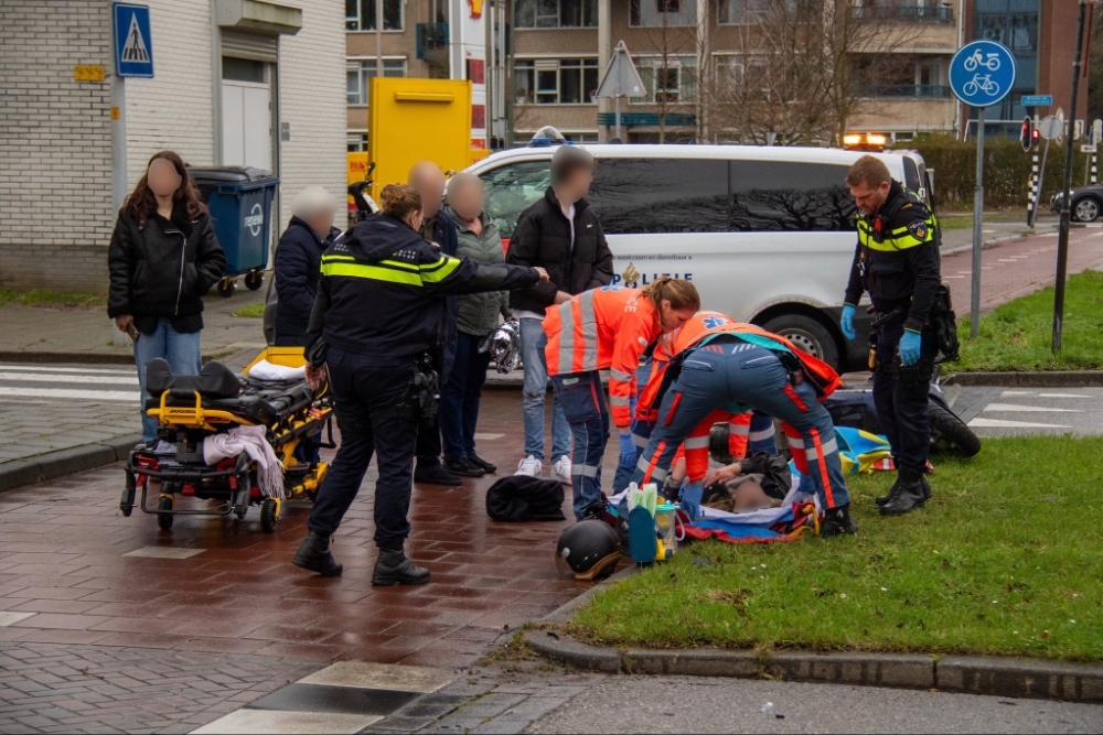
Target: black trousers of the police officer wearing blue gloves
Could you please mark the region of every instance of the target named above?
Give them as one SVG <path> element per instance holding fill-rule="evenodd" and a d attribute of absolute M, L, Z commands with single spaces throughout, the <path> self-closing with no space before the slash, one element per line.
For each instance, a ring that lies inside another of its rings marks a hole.
<path fill-rule="evenodd" d="M 897 468 L 909 467 L 927 472 L 927 456 L 931 451 L 931 420 L 928 413 L 928 391 L 932 369 L 928 368 L 915 379 L 900 379 L 897 347 L 903 336 L 903 322 L 886 324 L 877 335 L 877 369 L 874 370 L 874 406 L 881 429 L 892 445 Z M 930 327 L 923 329 L 920 354 L 932 358 L 936 345 Z M 931 363 L 921 360 L 924 365 Z"/>

